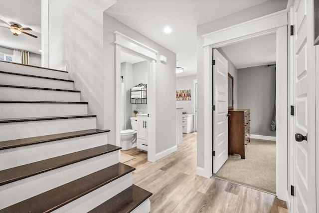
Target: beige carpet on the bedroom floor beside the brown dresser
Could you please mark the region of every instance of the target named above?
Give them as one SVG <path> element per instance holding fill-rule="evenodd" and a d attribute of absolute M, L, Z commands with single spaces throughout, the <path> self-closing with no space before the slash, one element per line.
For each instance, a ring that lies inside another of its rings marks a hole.
<path fill-rule="evenodd" d="M 251 139 L 245 155 L 228 155 L 213 177 L 276 194 L 276 142 Z"/>

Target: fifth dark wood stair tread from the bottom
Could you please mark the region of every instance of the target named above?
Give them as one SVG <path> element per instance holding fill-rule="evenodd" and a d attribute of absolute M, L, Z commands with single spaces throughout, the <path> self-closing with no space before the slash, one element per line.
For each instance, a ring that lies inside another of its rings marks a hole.
<path fill-rule="evenodd" d="M 68 115 L 68 116 L 45 116 L 45 117 L 31 117 L 31 118 L 4 118 L 0 119 L 0 123 L 12 123 L 12 122 L 28 122 L 28 121 L 45 121 L 45 120 L 59 120 L 59 119 L 71 119 L 71 118 L 90 118 L 96 117 L 96 115 Z"/>

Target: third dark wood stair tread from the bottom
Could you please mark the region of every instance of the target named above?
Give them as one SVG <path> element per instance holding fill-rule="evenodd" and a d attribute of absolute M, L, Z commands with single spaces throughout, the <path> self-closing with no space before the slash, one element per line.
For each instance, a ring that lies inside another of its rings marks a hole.
<path fill-rule="evenodd" d="M 0 186 L 121 149 L 111 144 L 0 171 Z"/>

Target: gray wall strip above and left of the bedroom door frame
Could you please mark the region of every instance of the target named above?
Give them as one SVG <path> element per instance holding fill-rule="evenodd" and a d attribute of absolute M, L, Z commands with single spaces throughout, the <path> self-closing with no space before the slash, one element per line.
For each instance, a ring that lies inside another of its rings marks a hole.
<path fill-rule="evenodd" d="M 204 168 L 204 53 L 202 35 L 226 28 L 241 22 L 261 17 L 282 9 L 286 9 L 287 0 L 269 0 L 262 4 L 241 10 L 220 19 L 197 26 L 197 87 L 198 87 L 198 117 L 197 117 L 197 167 Z"/>

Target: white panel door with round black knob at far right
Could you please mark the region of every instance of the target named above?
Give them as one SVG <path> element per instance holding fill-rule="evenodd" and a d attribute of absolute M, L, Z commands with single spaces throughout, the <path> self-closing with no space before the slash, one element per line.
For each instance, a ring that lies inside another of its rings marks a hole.
<path fill-rule="evenodd" d="M 294 4 L 294 134 L 300 134 L 293 142 L 294 146 L 294 212 L 308 213 L 310 198 L 310 141 L 304 136 L 309 130 L 310 101 L 310 43 L 308 35 L 309 17 L 308 0 L 296 0 Z"/>

